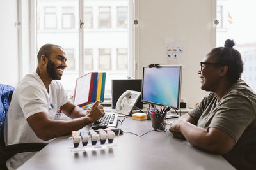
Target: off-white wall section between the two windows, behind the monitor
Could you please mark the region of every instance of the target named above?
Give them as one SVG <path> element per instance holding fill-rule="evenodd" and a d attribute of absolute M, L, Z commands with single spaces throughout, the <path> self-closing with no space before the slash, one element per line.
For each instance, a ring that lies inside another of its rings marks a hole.
<path fill-rule="evenodd" d="M 187 106 L 195 106 L 207 95 L 200 89 L 197 72 L 200 61 L 215 45 L 212 16 L 216 16 L 216 0 L 138 0 L 137 3 L 136 77 L 142 77 L 143 66 L 166 64 L 164 39 L 184 39 L 186 67 L 182 71 L 181 99 Z"/>

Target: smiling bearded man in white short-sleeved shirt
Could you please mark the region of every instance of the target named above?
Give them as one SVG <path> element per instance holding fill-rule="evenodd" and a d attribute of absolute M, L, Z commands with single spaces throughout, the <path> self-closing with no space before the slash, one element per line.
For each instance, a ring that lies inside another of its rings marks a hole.
<path fill-rule="evenodd" d="M 65 52 L 58 45 L 46 44 L 40 48 L 38 67 L 33 74 L 27 74 L 13 92 L 8 110 L 7 145 L 15 143 L 49 142 L 53 138 L 70 134 L 102 117 L 105 112 L 97 101 L 88 113 L 75 106 L 65 95 L 61 80 L 67 67 Z M 60 110 L 70 120 L 54 118 Z M 17 169 L 35 152 L 19 153 L 6 162 L 8 169 Z"/>

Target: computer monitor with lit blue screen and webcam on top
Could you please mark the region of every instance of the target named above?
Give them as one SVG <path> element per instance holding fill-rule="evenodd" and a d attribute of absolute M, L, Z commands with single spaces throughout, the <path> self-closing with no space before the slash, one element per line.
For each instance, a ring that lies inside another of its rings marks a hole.
<path fill-rule="evenodd" d="M 182 66 L 143 67 L 141 101 L 179 109 Z"/>

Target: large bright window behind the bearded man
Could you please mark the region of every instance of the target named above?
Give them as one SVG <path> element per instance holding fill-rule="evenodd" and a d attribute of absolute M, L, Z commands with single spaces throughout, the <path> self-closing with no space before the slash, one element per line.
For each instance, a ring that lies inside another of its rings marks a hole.
<path fill-rule="evenodd" d="M 91 71 L 106 72 L 105 96 L 111 94 L 112 79 L 134 77 L 134 57 L 133 52 L 130 52 L 133 44 L 129 42 L 133 38 L 132 29 L 129 29 L 132 28 L 129 25 L 132 22 L 127 20 L 128 15 L 132 15 L 133 5 L 129 8 L 131 2 L 132 0 L 37 0 L 36 22 L 40 23 L 40 27 L 35 31 L 36 43 L 32 45 L 36 45 L 37 50 L 46 43 L 65 48 L 67 69 L 60 82 L 67 92 L 74 92 L 76 79 Z M 54 19 L 54 24 L 47 25 L 54 25 L 55 29 L 45 29 L 45 14 Z M 126 24 L 126 29 L 116 29 L 117 20 L 115 22 L 113 18 L 120 20 L 118 25 L 121 27 Z M 80 20 L 84 22 L 83 27 L 79 27 Z"/>

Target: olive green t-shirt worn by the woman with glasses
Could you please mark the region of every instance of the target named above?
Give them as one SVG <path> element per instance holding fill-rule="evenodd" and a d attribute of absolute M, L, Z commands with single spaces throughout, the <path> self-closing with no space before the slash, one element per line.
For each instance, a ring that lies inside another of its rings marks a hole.
<path fill-rule="evenodd" d="M 220 101 L 211 92 L 188 114 L 198 127 L 218 128 L 236 141 L 223 155 L 236 169 L 256 169 L 256 94 L 243 80 L 237 81 Z"/>

